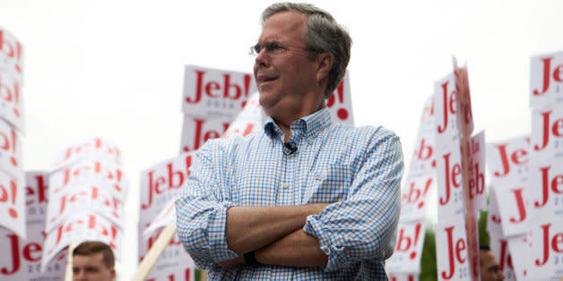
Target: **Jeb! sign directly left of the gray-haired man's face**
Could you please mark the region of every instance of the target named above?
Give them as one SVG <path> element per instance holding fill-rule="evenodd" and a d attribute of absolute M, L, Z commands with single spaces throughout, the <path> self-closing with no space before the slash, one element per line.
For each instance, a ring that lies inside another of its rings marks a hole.
<path fill-rule="evenodd" d="M 182 111 L 200 118 L 232 120 L 253 92 L 256 83 L 251 73 L 186 65 Z"/>

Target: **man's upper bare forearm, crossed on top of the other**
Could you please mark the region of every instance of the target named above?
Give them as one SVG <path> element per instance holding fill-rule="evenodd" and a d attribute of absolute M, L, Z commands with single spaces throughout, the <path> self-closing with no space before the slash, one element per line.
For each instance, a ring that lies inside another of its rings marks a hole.
<path fill-rule="evenodd" d="M 262 248 L 303 227 L 307 216 L 319 214 L 327 205 L 232 207 L 225 230 L 229 249 L 246 253 Z"/>

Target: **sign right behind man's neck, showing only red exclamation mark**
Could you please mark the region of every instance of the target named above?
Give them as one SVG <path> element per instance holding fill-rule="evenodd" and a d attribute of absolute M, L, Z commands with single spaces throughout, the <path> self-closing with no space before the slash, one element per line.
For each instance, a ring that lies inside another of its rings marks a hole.
<path fill-rule="evenodd" d="M 326 107 L 337 123 L 354 124 L 351 108 L 350 72 L 346 72 L 342 81 L 326 99 Z"/>

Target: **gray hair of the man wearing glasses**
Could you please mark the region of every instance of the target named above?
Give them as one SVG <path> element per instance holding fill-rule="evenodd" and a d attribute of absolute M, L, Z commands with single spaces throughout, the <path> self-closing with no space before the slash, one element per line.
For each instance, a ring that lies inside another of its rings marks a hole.
<path fill-rule="evenodd" d="M 321 53 L 333 55 L 333 68 L 328 73 L 325 98 L 330 98 L 333 90 L 346 74 L 346 66 L 350 61 L 351 37 L 333 16 L 312 4 L 276 3 L 267 7 L 262 13 L 262 25 L 275 13 L 297 12 L 307 14 L 307 28 L 303 41 L 311 50 L 309 58 Z"/>

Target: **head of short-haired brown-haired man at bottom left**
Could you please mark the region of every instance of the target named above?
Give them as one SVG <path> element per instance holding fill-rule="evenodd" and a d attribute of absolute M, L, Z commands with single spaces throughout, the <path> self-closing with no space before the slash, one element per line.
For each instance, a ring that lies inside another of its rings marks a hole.
<path fill-rule="evenodd" d="M 73 279 L 110 281 L 116 277 L 113 251 L 106 243 L 88 241 L 73 251 Z"/>

